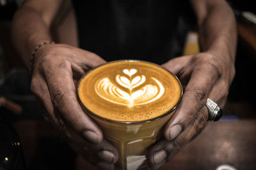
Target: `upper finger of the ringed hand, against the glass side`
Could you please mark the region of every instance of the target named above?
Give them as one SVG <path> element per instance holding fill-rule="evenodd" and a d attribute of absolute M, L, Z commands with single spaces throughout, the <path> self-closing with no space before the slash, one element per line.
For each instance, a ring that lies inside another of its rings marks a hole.
<path fill-rule="evenodd" d="M 198 111 L 205 105 L 218 78 L 219 73 L 215 66 L 211 64 L 195 67 L 179 107 L 165 126 L 164 136 L 166 139 L 174 139 L 188 126 Z"/>

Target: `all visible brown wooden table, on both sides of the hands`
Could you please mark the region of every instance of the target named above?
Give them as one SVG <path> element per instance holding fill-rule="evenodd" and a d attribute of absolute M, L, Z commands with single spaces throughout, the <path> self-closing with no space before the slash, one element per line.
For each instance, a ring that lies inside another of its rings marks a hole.
<path fill-rule="evenodd" d="M 13 124 L 20 135 L 27 164 L 31 162 L 40 138 L 56 136 L 48 122 L 22 121 Z M 256 169 L 256 120 L 209 122 L 204 131 L 176 157 L 160 169 L 216 169 L 229 164 L 242 169 Z M 76 168 L 97 169 L 78 157 Z"/>

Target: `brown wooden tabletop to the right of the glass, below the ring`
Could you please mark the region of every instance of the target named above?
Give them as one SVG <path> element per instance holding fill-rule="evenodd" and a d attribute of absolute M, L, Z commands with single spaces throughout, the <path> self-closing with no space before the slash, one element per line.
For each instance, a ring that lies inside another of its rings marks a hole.
<path fill-rule="evenodd" d="M 236 169 L 256 169 L 256 121 L 211 122 L 162 169 L 216 169 L 230 164 Z"/>

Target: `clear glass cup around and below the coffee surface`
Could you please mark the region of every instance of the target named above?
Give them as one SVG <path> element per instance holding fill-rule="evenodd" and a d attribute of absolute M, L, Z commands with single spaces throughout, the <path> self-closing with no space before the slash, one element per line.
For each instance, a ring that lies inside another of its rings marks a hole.
<path fill-rule="evenodd" d="M 120 60 L 116 62 L 131 62 L 131 60 Z M 134 60 L 132 60 L 132 62 L 134 62 Z M 147 63 L 151 64 L 149 62 Z M 158 66 L 156 64 L 152 65 Z M 77 98 L 84 111 L 88 113 L 102 129 L 104 139 L 108 140 L 117 148 L 120 157 L 118 162 L 116 162 L 115 168 L 124 170 L 145 169 L 148 166 L 146 159 L 148 149 L 150 146 L 156 143 L 161 136 L 163 136 L 163 126 L 170 119 L 170 117 L 172 117 L 182 98 L 183 90 L 180 81 L 176 76 L 168 71 L 168 73 L 172 74 L 179 82 L 180 87 L 179 100 L 173 106 L 173 108 L 170 108 L 162 115 L 149 120 L 126 122 L 101 117 L 84 106 L 83 102 L 81 101 L 81 96 L 79 96 L 79 88 L 81 87 L 81 81 L 83 81 L 83 78 L 90 73 L 91 72 L 84 74 L 79 81 L 77 85 Z"/>

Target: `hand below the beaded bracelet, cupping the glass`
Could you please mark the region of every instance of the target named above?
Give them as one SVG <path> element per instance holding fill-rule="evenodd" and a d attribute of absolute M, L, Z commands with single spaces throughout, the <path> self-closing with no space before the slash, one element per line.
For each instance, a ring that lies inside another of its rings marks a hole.
<path fill-rule="evenodd" d="M 68 45 L 44 45 L 33 61 L 31 91 L 45 108 L 47 117 L 77 153 L 103 169 L 113 169 L 118 159 L 114 146 L 77 102 L 79 78 L 105 61 L 98 55 Z"/>

